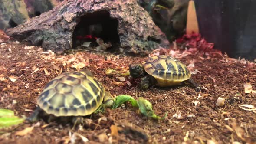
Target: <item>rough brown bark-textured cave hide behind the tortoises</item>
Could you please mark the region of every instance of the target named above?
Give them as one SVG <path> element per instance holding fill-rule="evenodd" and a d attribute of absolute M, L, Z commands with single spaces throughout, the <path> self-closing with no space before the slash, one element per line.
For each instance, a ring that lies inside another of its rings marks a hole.
<path fill-rule="evenodd" d="M 7 29 L 7 35 L 61 54 L 77 44 L 79 34 L 100 24 L 99 38 L 125 54 L 145 55 L 169 46 L 165 34 L 137 0 L 66 0 L 53 10 Z"/>

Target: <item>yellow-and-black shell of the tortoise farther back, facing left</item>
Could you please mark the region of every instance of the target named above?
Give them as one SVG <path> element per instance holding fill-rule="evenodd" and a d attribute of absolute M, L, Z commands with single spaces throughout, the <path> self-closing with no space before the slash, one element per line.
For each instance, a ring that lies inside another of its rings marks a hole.
<path fill-rule="evenodd" d="M 187 66 L 171 56 L 152 56 L 142 65 L 144 71 L 152 75 L 160 87 L 177 85 L 191 77 Z"/>

